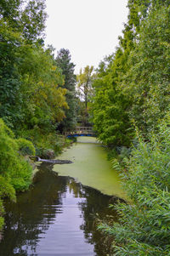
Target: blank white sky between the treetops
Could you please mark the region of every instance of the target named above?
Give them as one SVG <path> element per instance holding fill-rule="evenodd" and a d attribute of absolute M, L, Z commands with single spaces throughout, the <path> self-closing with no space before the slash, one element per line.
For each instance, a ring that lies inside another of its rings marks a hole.
<path fill-rule="evenodd" d="M 112 54 L 127 21 L 127 0 L 46 0 L 46 44 L 55 54 L 68 48 L 76 64 L 97 67 L 105 55 Z"/>

